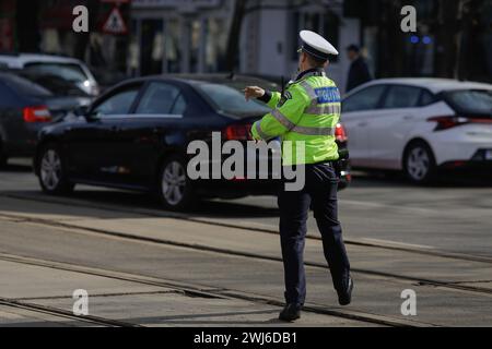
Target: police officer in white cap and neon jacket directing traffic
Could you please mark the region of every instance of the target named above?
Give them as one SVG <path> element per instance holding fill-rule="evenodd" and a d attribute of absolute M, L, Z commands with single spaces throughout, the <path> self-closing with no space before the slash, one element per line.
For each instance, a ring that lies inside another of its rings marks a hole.
<path fill-rule="evenodd" d="M 278 197 L 286 302 L 279 316 L 282 321 L 298 318 L 306 297 L 303 253 L 309 207 L 323 237 L 325 257 L 341 305 L 351 302 L 353 288 L 337 217 L 335 163 L 339 155 L 335 129 L 340 118 L 340 93 L 325 74 L 329 55 L 338 55 L 338 51 L 316 33 L 302 31 L 300 36 L 303 41 L 298 50 L 301 73 L 286 86 L 283 96 L 258 86 L 244 91 L 246 99 L 256 97 L 273 109 L 253 125 L 254 139 L 280 137 L 282 165 L 305 166 L 303 189 L 288 191 L 282 185 Z M 291 142 L 291 152 L 285 152 L 286 141 Z M 300 146 L 305 147 L 304 158 L 292 156 Z"/>

